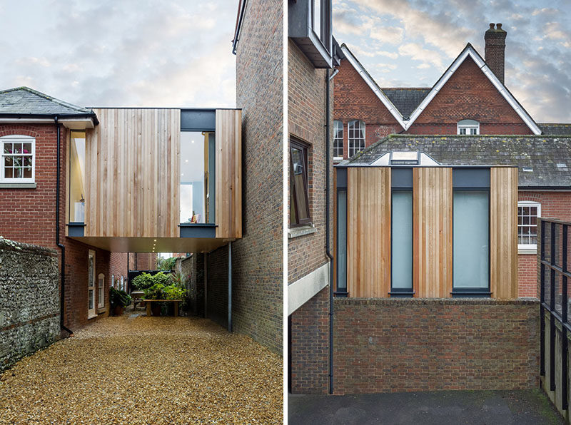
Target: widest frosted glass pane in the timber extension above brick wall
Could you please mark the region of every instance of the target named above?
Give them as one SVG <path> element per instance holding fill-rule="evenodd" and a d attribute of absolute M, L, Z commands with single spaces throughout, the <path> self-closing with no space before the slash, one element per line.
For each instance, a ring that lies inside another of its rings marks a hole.
<path fill-rule="evenodd" d="M 455 191 L 453 286 L 486 289 L 489 283 L 489 201 L 486 191 Z"/>

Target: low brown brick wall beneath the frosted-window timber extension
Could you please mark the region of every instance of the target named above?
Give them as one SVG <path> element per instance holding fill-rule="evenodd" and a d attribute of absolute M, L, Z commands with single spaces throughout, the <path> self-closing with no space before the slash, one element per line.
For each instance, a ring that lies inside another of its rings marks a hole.
<path fill-rule="evenodd" d="M 334 318 L 335 394 L 537 388 L 537 301 L 335 299 Z"/>

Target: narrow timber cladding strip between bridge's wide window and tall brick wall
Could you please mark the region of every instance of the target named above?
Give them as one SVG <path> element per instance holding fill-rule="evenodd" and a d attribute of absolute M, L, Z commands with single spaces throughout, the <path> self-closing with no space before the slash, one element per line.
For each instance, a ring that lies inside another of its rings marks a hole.
<path fill-rule="evenodd" d="M 241 110 L 216 110 L 216 237 L 242 237 L 241 128 Z"/>

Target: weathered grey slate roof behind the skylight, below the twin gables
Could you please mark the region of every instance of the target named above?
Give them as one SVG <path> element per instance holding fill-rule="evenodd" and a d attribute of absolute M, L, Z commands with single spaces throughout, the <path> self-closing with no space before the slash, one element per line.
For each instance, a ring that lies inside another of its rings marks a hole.
<path fill-rule="evenodd" d="M 409 150 L 442 165 L 516 165 L 520 188 L 571 188 L 571 136 L 388 135 L 339 165 L 370 165 L 390 151 Z"/>

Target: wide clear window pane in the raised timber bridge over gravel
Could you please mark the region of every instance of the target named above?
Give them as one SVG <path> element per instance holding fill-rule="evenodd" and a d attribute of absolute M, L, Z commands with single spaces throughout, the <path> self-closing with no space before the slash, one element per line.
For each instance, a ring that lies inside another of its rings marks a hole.
<path fill-rule="evenodd" d="M 183 223 L 206 222 L 205 146 L 208 133 L 181 132 L 181 217 Z"/>

